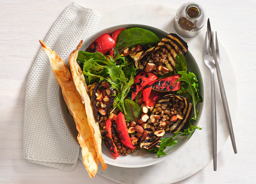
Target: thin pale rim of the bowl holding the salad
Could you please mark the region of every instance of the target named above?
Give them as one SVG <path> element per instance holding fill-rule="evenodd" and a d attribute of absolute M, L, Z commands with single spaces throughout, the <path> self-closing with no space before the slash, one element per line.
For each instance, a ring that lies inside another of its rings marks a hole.
<path fill-rule="evenodd" d="M 115 25 L 115 26 L 110 26 L 108 28 L 105 28 L 105 29 L 102 29 L 102 30 L 99 30 L 97 32 L 95 32 L 94 34 L 88 36 L 88 38 L 86 38 L 84 40 L 84 43 L 83 43 L 83 46 L 79 49 L 79 50 L 84 50 L 84 47 L 88 47 L 96 38 L 98 38 L 98 36 L 104 34 L 104 33 L 111 33 L 113 31 L 115 31 L 116 29 L 120 29 L 120 28 L 132 28 L 132 27 L 139 27 L 139 28 L 143 28 L 143 29 L 148 29 L 150 31 L 152 30 L 156 30 L 158 32 L 161 32 L 161 34 L 169 34 L 168 32 L 164 31 L 163 29 L 160 29 L 160 28 L 156 28 L 154 26 L 149 26 L 149 25 L 144 25 L 144 24 L 120 24 L 120 25 Z M 110 31 L 110 30 L 113 30 L 113 31 Z M 154 32 L 154 31 L 152 31 Z M 178 35 L 179 36 L 179 35 Z M 90 41 L 92 40 L 92 41 Z M 189 53 L 190 57 L 193 58 L 194 61 L 196 61 L 192 55 L 192 53 L 189 52 L 189 50 L 187 50 L 187 53 Z M 200 71 L 200 68 L 197 64 L 197 62 L 194 63 L 196 65 L 196 67 L 198 68 L 199 72 L 201 73 Z M 66 61 L 66 65 L 69 67 L 69 62 Z M 202 92 L 202 94 L 204 94 L 204 88 L 203 88 L 203 84 L 201 84 L 201 89 L 200 91 Z M 204 95 L 203 95 L 203 98 L 204 98 Z M 62 120 L 63 120 L 63 123 L 67 129 L 67 131 L 69 132 L 69 134 L 71 135 L 71 137 L 74 139 L 74 141 L 79 145 L 78 141 L 77 141 L 77 135 L 74 135 L 74 130 L 72 131 L 70 126 L 69 126 L 69 123 L 67 122 L 66 119 L 64 119 L 64 117 L 66 116 L 66 110 L 63 110 L 63 102 L 64 102 L 64 99 L 63 99 L 63 95 L 62 95 L 62 90 L 59 86 L 59 91 L 58 91 L 58 101 L 59 101 L 59 108 L 60 108 L 60 113 L 61 113 L 61 116 L 62 116 Z M 203 100 L 204 102 L 204 100 Z M 204 103 L 201 103 L 201 106 L 200 106 L 200 110 L 202 110 L 203 108 L 203 104 Z M 65 105 L 65 102 L 64 102 L 64 105 Z M 200 114 L 199 114 L 199 117 L 198 117 L 198 121 L 196 124 L 199 123 L 199 120 L 200 120 Z M 73 125 L 74 126 L 74 125 Z M 71 127 L 73 127 L 71 126 Z M 75 126 L 74 126 L 75 127 Z M 75 127 L 76 128 L 76 127 Z M 194 132 L 193 132 L 194 133 Z M 193 135 L 193 134 L 192 134 Z M 185 144 L 187 144 L 187 142 L 189 141 L 189 139 L 186 139 L 184 138 L 182 140 L 183 142 L 178 146 L 178 148 L 176 147 L 175 150 L 173 150 L 170 154 L 168 155 L 165 155 L 165 156 L 162 156 L 160 158 L 156 158 L 154 161 L 152 162 L 148 162 L 148 163 L 144 163 L 144 164 L 139 164 L 139 165 L 125 165 L 125 164 L 118 164 L 118 163 L 113 163 L 113 162 L 108 162 L 108 160 L 105 160 L 105 162 L 107 164 L 110 164 L 110 165 L 113 165 L 113 166 L 118 166 L 118 167 L 126 167 L 126 168 L 138 168 L 138 167 L 146 167 L 146 166 L 151 166 L 151 165 L 154 165 L 154 164 L 157 164 L 159 162 L 162 162 L 163 160 L 165 159 L 168 159 L 170 158 L 172 155 L 174 155 L 175 153 L 177 153 Z M 80 145 L 79 145 L 80 146 Z"/>

